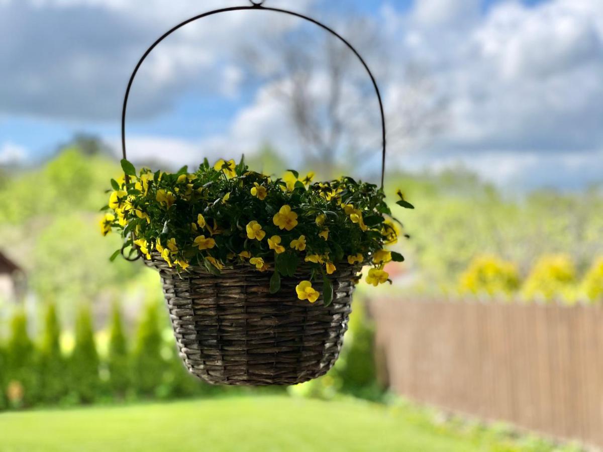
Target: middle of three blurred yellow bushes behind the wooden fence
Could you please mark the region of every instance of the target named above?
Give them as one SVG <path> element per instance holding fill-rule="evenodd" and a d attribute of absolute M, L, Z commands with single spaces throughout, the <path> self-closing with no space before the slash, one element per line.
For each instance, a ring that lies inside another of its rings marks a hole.
<path fill-rule="evenodd" d="M 530 300 L 563 301 L 575 298 L 576 270 L 564 254 L 542 256 L 523 283 L 523 296 Z"/>

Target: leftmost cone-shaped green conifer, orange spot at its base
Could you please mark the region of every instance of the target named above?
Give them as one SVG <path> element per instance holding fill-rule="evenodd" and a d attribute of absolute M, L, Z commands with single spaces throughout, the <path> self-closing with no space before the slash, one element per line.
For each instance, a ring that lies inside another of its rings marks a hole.
<path fill-rule="evenodd" d="M 27 317 L 18 311 L 11 321 L 6 350 L 4 391 L 13 407 L 31 406 L 39 396 L 36 348 L 27 333 Z"/>

